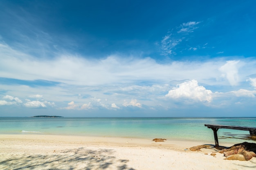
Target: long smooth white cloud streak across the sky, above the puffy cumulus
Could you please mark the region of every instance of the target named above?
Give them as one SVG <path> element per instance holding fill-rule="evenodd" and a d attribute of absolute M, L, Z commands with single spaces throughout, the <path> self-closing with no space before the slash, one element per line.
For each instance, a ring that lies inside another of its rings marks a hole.
<path fill-rule="evenodd" d="M 168 40 L 168 37 L 165 39 Z M 166 46 L 166 48 L 168 51 L 169 47 Z M 231 78 L 229 78 L 232 76 L 229 76 L 230 73 L 227 68 L 224 69 L 225 66 L 219 69 L 227 64 L 223 58 L 218 60 L 212 59 L 206 62 L 173 61 L 159 64 L 151 58 L 123 57 L 119 55 L 110 55 L 99 60 L 88 60 L 71 55 L 38 60 L 31 56 L 21 55 L 22 57 L 20 57 L 17 51 L 13 53 L 8 52 L 9 55 L 7 56 L 9 57 L 0 58 L 1 76 L 12 79 L 43 79 L 57 81 L 60 84 L 83 86 L 135 84 L 137 81 L 154 81 L 155 84 L 158 84 L 158 82 L 168 83 L 169 80 L 196 79 L 201 83 L 211 85 L 213 81 L 209 80 L 218 79 L 221 74 L 220 72 L 222 72 L 223 76 L 227 76 L 231 83 L 235 82 L 232 82 Z M 0 50 L 1 55 L 3 54 Z M 239 70 L 241 75 L 250 75 L 256 72 L 254 60 L 248 59 L 244 63 L 244 68 L 247 68 L 249 65 L 251 66 L 250 70 Z M 42 88 L 41 91 L 43 90 Z M 38 93 L 38 91 L 34 90 L 33 93 Z M 55 91 L 54 93 L 59 92 Z M 77 94 L 79 93 L 81 92 Z"/>

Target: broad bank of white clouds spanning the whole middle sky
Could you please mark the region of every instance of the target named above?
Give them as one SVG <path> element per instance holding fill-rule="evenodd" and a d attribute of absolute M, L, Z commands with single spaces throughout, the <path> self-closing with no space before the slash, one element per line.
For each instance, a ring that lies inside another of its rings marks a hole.
<path fill-rule="evenodd" d="M 168 109 L 177 101 L 213 108 L 256 98 L 253 57 L 166 63 L 117 54 L 97 60 L 70 54 L 38 59 L 7 44 L 0 48 L 7 56 L 0 59 L 0 106 L 115 112 Z"/>

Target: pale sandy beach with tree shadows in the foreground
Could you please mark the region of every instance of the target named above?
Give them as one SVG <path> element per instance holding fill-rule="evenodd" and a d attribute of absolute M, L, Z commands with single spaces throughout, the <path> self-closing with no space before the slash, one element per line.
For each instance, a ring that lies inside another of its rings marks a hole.
<path fill-rule="evenodd" d="M 254 170 L 249 161 L 224 160 L 214 149 L 188 150 L 197 141 L 60 135 L 0 135 L 1 170 Z M 232 146 L 233 144 L 225 144 Z"/>

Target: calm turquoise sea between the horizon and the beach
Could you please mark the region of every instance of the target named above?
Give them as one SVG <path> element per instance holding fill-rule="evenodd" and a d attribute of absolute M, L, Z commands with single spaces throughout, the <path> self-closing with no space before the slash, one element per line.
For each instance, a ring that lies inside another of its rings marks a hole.
<path fill-rule="evenodd" d="M 213 131 L 204 124 L 256 127 L 256 117 L 0 117 L 0 134 L 165 138 L 214 143 Z M 218 130 L 220 144 L 252 142 L 248 137 L 249 131 Z"/>

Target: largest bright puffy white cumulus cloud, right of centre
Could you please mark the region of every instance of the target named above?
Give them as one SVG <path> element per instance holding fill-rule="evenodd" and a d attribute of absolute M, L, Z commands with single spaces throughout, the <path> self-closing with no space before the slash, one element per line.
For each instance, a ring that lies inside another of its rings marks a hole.
<path fill-rule="evenodd" d="M 198 86 L 198 82 L 193 79 L 191 81 L 178 84 L 177 87 L 174 87 L 165 96 L 173 99 L 189 99 L 200 102 L 211 102 L 211 94 L 212 92 L 210 90 L 206 90 L 204 86 Z"/>

